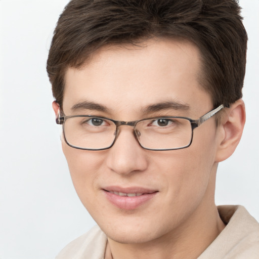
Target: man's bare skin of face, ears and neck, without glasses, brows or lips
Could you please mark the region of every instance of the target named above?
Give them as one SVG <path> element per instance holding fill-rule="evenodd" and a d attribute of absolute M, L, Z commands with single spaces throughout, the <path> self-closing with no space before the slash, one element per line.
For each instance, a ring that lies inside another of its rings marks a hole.
<path fill-rule="evenodd" d="M 210 96 L 199 83 L 199 51 L 190 42 L 149 40 L 143 47 L 100 49 L 81 69 L 65 75 L 63 111 L 131 121 L 153 116 L 199 118 L 212 110 Z M 107 110 L 76 109 L 94 102 Z M 145 111 L 174 101 L 188 109 Z M 58 114 L 59 105 L 53 108 Z M 141 148 L 132 127 L 123 125 L 114 146 L 86 151 L 62 140 L 71 178 L 83 205 L 108 237 L 106 258 L 197 258 L 224 229 L 214 203 L 218 162 L 230 156 L 245 120 L 241 100 L 194 130 L 190 147 L 171 151 Z M 156 190 L 136 209 L 113 205 L 107 186 Z"/>

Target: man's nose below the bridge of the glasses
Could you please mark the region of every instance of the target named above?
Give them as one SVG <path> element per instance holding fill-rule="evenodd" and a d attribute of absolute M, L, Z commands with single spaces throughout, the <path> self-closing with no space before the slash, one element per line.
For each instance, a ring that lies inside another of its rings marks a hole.
<path fill-rule="evenodd" d="M 107 166 L 120 175 L 144 171 L 148 167 L 147 151 L 136 140 L 132 127 L 120 126 L 114 145 L 107 150 Z"/>

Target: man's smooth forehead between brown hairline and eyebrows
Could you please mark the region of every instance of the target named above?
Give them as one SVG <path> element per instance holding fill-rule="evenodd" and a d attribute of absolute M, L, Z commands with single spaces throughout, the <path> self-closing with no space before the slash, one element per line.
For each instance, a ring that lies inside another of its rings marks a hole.
<path fill-rule="evenodd" d="M 141 46 L 104 47 L 80 69 L 67 69 L 63 108 L 71 110 L 85 100 L 111 112 L 140 111 L 168 101 L 210 104 L 199 83 L 200 67 L 198 48 L 189 41 L 147 40 Z"/>

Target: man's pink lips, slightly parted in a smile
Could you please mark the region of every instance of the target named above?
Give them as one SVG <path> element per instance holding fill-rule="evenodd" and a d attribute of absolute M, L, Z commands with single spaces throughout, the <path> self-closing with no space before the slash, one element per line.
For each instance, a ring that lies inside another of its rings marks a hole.
<path fill-rule="evenodd" d="M 102 189 L 106 198 L 116 207 L 131 210 L 136 209 L 139 206 L 147 203 L 150 199 L 152 199 L 157 193 L 157 190 L 146 189 L 142 187 L 128 187 L 122 188 L 119 186 L 109 186 Z M 122 195 L 125 194 L 137 194 L 137 196 L 129 197 L 129 196 L 120 196 L 118 193 Z"/>

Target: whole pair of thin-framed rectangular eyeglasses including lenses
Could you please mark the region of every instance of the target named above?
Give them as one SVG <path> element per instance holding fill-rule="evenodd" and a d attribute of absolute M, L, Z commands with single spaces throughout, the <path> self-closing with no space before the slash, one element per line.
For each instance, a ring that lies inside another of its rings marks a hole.
<path fill-rule="evenodd" d="M 220 105 L 198 119 L 162 116 L 134 121 L 119 121 L 92 115 L 65 116 L 59 113 L 56 122 L 63 124 L 67 145 L 83 150 L 111 148 L 119 136 L 120 126 L 132 126 L 136 140 L 148 150 L 175 150 L 187 148 L 193 140 L 194 128 L 215 115 Z"/>

